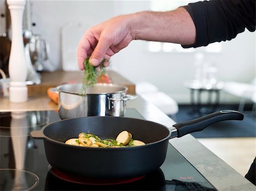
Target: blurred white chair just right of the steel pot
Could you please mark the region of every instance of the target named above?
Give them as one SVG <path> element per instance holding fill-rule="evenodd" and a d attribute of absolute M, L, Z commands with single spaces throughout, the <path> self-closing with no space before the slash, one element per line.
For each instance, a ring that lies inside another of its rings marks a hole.
<path fill-rule="evenodd" d="M 156 86 L 148 82 L 139 82 L 136 84 L 136 92 L 144 100 L 154 104 L 164 113 L 170 115 L 176 120 L 175 114 L 179 111 L 177 102 L 164 92 L 158 90 Z"/>

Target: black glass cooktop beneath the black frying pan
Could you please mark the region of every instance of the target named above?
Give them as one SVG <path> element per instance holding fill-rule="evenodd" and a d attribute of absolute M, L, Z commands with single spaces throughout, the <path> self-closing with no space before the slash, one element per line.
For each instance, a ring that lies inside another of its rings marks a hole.
<path fill-rule="evenodd" d="M 135 109 L 126 109 L 126 117 L 143 118 Z M 30 132 L 58 120 L 55 111 L 0 112 L 0 190 L 216 190 L 171 144 L 163 165 L 143 177 L 93 185 L 57 177 L 43 140 Z"/>

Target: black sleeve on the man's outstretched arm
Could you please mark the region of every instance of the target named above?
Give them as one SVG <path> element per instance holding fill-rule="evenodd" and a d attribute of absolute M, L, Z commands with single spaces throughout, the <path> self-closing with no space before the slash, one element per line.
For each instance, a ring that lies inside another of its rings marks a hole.
<path fill-rule="evenodd" d="M 189 3 L 184 8 L 196 26 L 196 43 L 183 48 L 207 46 L 234 39 L 238 33 L 255 31 L 255 0 L 212 0 Z"/>

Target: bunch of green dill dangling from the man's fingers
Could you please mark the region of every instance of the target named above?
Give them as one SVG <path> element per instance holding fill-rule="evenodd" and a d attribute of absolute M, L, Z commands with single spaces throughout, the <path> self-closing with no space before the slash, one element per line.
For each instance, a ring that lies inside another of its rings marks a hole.
<path fill-rule="evenodd" d="M 86 94 L 87 88 L 95 84 L 98 77 L 105 74 L 105 58 L 100 63 L 100 71 L 97 71 L 96 67 L 89 62 L 89 58 L 87 57 L 84 61 L 84 78 L 82 80 L 81 94 Z"/>

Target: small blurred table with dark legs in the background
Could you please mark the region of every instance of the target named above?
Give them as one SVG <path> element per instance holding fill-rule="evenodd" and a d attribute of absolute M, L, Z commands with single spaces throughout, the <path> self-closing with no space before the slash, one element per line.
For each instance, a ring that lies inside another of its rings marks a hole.
<path fill-rule="evenodd" d="M 224 82 L 201 83 L 199 80 L 189 80 L 184 83 L 184 86 L 191 91 L 192 113 L 207 114 L 212 113 L 220 102 L 220 91 L 224 87 Z M 207 92 L 207 101 L 203 101 L 202 93 Z M 196 97 L 197 94 L 197 97 Z M 213 96 L 215 95 L 215 98 Z"/>

